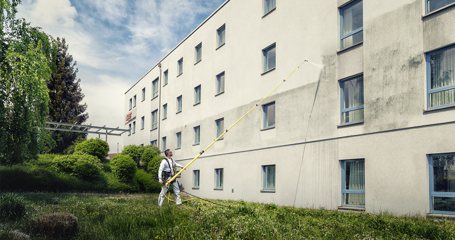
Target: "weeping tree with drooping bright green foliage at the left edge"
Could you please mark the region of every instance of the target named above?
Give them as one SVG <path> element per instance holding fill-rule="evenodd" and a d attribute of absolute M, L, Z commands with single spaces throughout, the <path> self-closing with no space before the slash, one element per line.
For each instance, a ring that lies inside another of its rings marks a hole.
<path fill-rule="evenodd" d="M 0 164 L 36 157 L 48 114 L 50 39 L 0 0 Z"/>

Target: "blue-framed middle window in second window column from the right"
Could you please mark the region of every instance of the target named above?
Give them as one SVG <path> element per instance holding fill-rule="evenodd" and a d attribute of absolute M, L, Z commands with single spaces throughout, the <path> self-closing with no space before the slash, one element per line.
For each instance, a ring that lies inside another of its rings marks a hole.
<path fill-rule="evenodd" d="M 341 124 L 363 121 L 363 75 L 340 81 Z"/>

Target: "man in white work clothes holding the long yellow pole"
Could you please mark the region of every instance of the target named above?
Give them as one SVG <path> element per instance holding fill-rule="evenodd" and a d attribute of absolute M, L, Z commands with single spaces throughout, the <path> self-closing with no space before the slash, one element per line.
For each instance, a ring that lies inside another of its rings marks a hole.
<path fill-rule="evenodd" d="M 166 157 L 161 161 L 160 164 L 160 169 L 158 170 L 158 180 L 163 186 L 165 185 L 164 181 L 167 181 L 171 179 L 172 176 L 174 176 L 174 166 L 177 166 L 179 168 L 183 168 L 183 166 L 177 164 L 174 159 L 172 159 L 172 151 L 169 149 L 166 149 L 164 151 L 164 155 Z M 164 174 L 163 174 L 164 172 Z M 164 176 L 161 176 L 164 175 Z M 163 181 L 164 179 L 164 181 Z M 172 184 L 172 187 L 174 188 L 174 197 L 175 197 L 175 202 L 177 205 L 181 204 L 180 201 L 180 188 L 178 187 L 178 182 L 177 180 L 172 181 L 170 184 L 167 185 L 167 187 L 161 188 L 160 196 L 158 197 L 158 206 L 163 205 L 164 201 L 164 194 L 169 190 L 169 185 Z"/>

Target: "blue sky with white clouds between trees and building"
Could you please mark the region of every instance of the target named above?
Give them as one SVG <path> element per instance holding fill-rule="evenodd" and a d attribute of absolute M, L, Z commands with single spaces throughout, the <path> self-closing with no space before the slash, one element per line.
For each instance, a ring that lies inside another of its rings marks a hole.
<path fill-rule="evenodd" d="M 17 17 L 65 37 L 88 106 L 85 124 L 125 128 L 124 93 L 224 1 L 22 0 Z M 121 151 L 123 139 L 108 143 L 109 152 L 117 143 Z"/>

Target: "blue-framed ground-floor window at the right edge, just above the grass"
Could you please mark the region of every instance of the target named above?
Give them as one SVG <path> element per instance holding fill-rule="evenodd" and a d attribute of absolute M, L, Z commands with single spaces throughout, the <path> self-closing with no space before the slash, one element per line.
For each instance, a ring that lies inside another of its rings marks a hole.
<path fill-rule="evenodd" d="M 430 163 L 430 209 L 455 214 L 455 153 L 432 154 Z"/>

